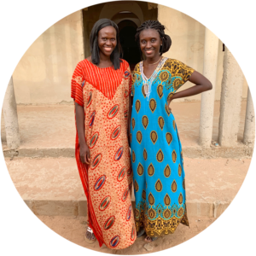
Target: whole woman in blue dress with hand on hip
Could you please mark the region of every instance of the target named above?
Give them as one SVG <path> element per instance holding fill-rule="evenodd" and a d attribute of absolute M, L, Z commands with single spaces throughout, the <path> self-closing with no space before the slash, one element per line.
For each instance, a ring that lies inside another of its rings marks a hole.
<path fill-rule="evenodd" d="M 146 57 L 137 63 L 131 89 L 131 165 L 136 199 L 137 236 L 145 241 L 189 226 L 186 212 L 182 146 L 169 108 L 172 100 L 211 90 L 201 73 L 162 56 L 172 44 L 159 21 L 137 28 L 136 40 Z M 176 92 L 187 80 L 195 86 Z"/>

